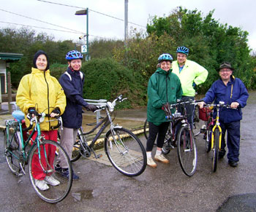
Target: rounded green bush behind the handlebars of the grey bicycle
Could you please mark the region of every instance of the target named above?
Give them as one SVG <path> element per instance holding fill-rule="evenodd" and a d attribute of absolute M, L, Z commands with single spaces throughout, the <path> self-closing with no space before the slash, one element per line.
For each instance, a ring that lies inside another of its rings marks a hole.
<path fill-rule="evenodd" d="M 112 101 L 122 94 L 128 101 L 119 108 L 146 104 L 145 88 L 140 85 L 141 76 L 135 76 L 116 60 L 93 59 L 83 63 L 82 70 L 85 73 L 84 98 Z"/>

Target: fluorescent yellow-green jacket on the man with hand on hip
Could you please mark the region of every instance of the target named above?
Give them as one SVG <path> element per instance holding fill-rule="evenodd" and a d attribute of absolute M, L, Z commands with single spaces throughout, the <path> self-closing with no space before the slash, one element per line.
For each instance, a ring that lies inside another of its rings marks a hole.
<path fill-rule="evenodd" d="M 181 87 L 183 95 L 185 96 L 195 96 L 195 85 L 200 85 L 206 81 L 208 76 L 208 71 L 203 66 L 200 66 L 198 63 L 195 63 L 192 60 L 186 60 L 186 63 L 179 72 L 178 61 L 173 61 L 173 73 L 178 75 L 178 78 L 181 80 Z"/>

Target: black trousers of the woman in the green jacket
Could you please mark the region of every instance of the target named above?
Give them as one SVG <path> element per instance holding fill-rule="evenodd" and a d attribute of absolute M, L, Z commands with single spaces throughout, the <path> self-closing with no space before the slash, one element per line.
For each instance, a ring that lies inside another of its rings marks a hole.
<path fill-rule="evenodd" d="M 154 141 L 157 138 L 157 147 L 162 148 L 165 142 L 165 134 L 167 133 L 169 122 L 163 122 L 161 125 L 154 125 L 148 122 L 149 135 L 146 144 L 146 152 L 151 152 L 154 146 Z M 158 136 L 157 136 L 158 135 Z"/>

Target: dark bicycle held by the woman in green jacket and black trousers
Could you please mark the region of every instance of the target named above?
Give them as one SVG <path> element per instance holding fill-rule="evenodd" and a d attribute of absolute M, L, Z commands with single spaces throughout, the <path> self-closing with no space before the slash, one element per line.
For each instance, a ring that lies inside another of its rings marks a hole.
<path fill-rule="evenodd" d="M 181 169 L 187 176 L 192 176 L 195 173 L 197 165 L 197 149 L 195 146 L 195 138 L 189 122 L 187 120 L 186 104 L 195 104 L 195 101 L 179 101 L 178 103 L 170 104 L 170 109 L 176 108 L 175 114 L 166 114 L 166 118 L 170 120 L 165 142 L 162 146 L 162 153 L 168 154 L 170 149 L 177 146 L 178 161 Z M 177 107 L 180 106 L 184 115 L 177 112 Z M 176 126 L 181 122 L 181 127 L 176 135 Z M 176 138 L 177 137 L 177 138 Z"/>

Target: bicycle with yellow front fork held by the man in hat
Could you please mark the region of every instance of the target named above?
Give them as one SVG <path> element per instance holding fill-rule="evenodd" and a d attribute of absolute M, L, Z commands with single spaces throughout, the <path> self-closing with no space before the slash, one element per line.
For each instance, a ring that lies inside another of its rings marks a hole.
<path fill-rule="evenodd" d="M 206 140 L 206 152 L 210 152 L 212 150 L 212 170 L 216 172 L 219 158 L 219 150 L 222 147 L 222 128 L 219 123 L 219 109 L 221 107 L 230 108 L 229 105 L 225 104 L 224 101 L 219 101 L 217 104 L 205 104 L 206 108 L 215 107 L 217 110 L 217 116 L 213 118 L 212 111 L 206 111 L 207 116 L 207 125 L 206 130 L 202 130 L 204 133 L 204 138 Z M 210 116 L 210 117 L 209 117 Z"/>

